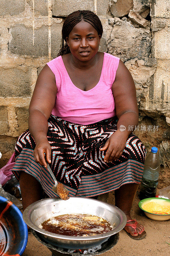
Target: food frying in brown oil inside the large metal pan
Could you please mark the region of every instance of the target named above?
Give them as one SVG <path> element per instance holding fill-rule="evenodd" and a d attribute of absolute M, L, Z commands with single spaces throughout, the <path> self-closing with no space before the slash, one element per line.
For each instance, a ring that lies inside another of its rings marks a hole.
<path fill-rule="evenodd" d="M 65 236 L 96 236 L 114 229 L 102 217 L 90 214 L 64 214 L 39 225 L 46 231 Z"/>

